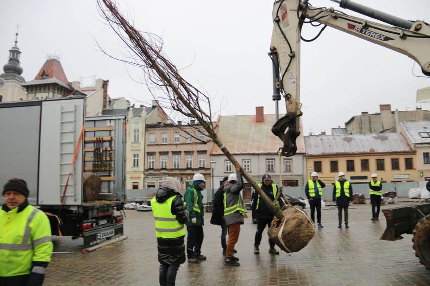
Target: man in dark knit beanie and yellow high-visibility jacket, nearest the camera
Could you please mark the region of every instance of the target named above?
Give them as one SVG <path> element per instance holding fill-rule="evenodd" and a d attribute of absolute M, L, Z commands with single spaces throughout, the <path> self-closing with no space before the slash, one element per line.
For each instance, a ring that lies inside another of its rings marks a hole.
<path fill-rule="evenodd" d="M 2 194 L 0 285 L 42 285 L 53 251 L 49 219 L 28 203 L 23 179 L 10 179 Z"/>

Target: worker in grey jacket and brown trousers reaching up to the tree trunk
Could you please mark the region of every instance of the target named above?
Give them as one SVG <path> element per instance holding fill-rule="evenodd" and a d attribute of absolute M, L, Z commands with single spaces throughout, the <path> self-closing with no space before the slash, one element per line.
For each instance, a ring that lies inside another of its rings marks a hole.
<path fill-rule="evenodd" d="M 243 225 L 243 218 L 246 217 L 243 209 L 243 202 L 240 192 L 242 191 L 242 175 L 240 174 L 240 165 L 235 166 L 237 174 L 229 175 L 229 182 L 224 186 L 224 220 L 226 221 L 229 232 L 227 241 L 225 265 L 239 266 L 239 259 L 233 256 L 233 250 L 239 239 L 240 225 Z"/>

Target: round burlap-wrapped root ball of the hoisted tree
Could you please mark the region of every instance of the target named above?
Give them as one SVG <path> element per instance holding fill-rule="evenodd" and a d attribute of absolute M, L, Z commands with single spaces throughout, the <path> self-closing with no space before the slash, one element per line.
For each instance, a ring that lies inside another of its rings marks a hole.
<path fill-rule="evenodd" d="M 268 235 L 285 252 L 297 252 L 315 235 L 315 225 L 303 210 L 296 207 L 287 207 L 282 215 L 282 220 L 273 219 Z"/>

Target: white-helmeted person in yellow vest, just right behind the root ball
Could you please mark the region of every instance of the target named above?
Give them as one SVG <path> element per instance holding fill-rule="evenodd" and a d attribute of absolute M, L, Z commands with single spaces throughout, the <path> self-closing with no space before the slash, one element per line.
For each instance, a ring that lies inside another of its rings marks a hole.
<path fill-rule="evenodd" d="M 307 181 L 305 186 L 305 194 L 309 200 L 310 206 L 310 218 L 315 222 L 315 208 L 316 208 L 316 220 L 318 222 L 318 228 L 324 228 L 321 223 L 321 200 L 323 197 L 323 188 L 326 184 L 318 178 L 318 173 L 312 172 L 310 174 L 311 180 Z"/>

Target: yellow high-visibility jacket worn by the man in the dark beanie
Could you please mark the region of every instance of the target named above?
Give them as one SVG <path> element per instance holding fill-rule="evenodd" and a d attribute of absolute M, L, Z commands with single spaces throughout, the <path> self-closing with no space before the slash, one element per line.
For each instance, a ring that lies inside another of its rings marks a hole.
<path fill-rule="evenodd" d="M 0 209 L 0 277 L 30 274 L 33 261 L 49 262 L 53 244 L 48 217 L 28 205 L 6 212 Z M 46 271 L 44 267 L 33 272 Z"/>

